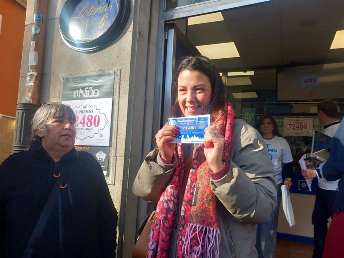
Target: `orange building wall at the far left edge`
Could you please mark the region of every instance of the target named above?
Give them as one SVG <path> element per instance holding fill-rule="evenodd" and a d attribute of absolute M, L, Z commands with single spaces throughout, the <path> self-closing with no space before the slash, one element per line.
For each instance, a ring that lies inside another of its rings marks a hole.
<path fill-rule="evenodd" d="M 0 163 L 12 153 L 18 82 L 25 25 L 25 3 L 0 2 Z"/>

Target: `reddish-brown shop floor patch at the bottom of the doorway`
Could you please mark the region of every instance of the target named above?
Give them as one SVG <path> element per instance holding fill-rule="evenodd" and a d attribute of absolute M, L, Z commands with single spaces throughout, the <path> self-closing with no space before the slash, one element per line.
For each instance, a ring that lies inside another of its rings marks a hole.
<path fill-rule="evenodd" d="M 277 239 L 275 258 L 311 258 L 312 254 L 312 244 Z"/>

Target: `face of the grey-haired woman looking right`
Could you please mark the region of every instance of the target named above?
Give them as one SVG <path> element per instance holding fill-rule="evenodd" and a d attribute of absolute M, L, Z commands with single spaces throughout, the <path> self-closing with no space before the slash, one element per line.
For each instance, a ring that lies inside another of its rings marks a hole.
<path fill-rule="evenodd" d="M 50 119 L 45 128 L 37 133 L 48 153 L 61 154 L 68 153 L 74 147 L 75 134 L 74 121 L 68 115 Z"/>

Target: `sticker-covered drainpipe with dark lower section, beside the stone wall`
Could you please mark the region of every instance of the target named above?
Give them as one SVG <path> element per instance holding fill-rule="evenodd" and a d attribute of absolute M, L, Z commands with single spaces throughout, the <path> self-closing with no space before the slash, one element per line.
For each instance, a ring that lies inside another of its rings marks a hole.
<path fill-rule="evenodd" d="M 48 0 L 35 0 L 25 99 L 24 103 L 17 104 L 13 152 L 26 149 L 31 131 L 30 122 L 39 108 L 47 9 Z"/>

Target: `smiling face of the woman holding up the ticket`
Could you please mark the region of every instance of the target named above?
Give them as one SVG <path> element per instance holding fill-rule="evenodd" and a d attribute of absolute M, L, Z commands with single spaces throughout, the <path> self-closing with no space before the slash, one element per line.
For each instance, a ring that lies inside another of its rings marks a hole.
<path fill-rule="evenodd" d="M 178 102 L 185 117 L 204 115 L 211 102 L 208 76 L 195 70 L 184 70 L 178 77 Z"/>

